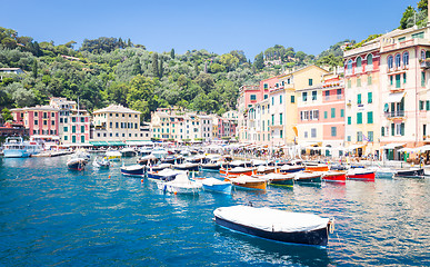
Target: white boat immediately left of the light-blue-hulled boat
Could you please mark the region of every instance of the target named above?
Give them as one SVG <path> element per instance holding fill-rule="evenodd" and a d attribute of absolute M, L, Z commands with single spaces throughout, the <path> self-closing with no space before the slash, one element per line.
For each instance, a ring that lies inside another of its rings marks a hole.
<path fill-rule="evenodd" d="M 160 181 L 157 186 L 164 192 L 172 194 L 199 194 L 202 188 L 201 182 L 188 179 L 188 175 L 184 172 L 177 175 L 171 181 Z"/>

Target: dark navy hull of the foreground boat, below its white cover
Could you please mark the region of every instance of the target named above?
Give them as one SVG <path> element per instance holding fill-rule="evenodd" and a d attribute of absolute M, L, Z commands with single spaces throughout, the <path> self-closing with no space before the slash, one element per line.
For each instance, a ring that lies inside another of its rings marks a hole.
<path fill-rule="evenodd" d="M 216 216 L 216 222 L 228 229 L 240 231 L 247 235 L 257 236 L 266 239 L 277 240 L 281 243 L 293 243 L 314 246 L 327 246 L 329 240 L 329 229 L 326 228 L 311 230 L 311 231 L 297 231 L 297 233 L 280 233 L 280 231 L 266 231 L 257 229 L 250 226 L 236 224 Z"/>

